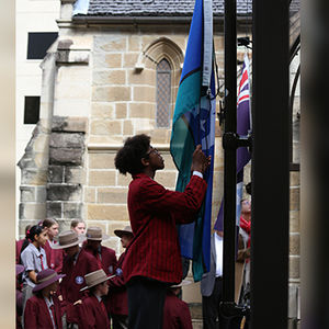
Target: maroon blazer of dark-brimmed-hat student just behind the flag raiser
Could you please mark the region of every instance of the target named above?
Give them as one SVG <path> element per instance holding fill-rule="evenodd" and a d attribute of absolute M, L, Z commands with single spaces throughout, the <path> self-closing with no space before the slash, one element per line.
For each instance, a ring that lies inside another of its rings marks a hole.
<path fill-rule="evenodd" d="M 117 269 L 122 269 L 122 263 L 125 259 L 123 252 L 117 261 Z M 124 284 L 123 276 L 114 276 L 109 280 L 109 297 L 110 297 L 110 313 L 113 315 L 128 315 L 128 297 L 127 290 Z"/>

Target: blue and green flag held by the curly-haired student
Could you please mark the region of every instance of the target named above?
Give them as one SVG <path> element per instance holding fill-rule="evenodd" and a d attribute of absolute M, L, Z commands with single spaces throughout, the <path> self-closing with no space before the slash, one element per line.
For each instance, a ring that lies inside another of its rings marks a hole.
<path fill-rule="evenodd" d="M 212 163 L 204 174 L 207 191 L 197 219 L 179 227 L 181 253 L 192 259 L 194 281 L 209 270 L 212 191 L 215 144 L 215 80 L 213 70 L 213 4 L 196 0 L 180 80 L 170 152 L 179 170 L 177 191 L 184 191 L 191 178 L 192 155 L 197 144 Z"/>

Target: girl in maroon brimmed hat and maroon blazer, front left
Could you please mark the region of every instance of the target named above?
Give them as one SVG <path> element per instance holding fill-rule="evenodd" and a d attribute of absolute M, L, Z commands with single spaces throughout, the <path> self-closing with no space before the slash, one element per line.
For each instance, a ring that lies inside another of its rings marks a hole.
<path fill-rule="evenodd" d="M 54 328 L 63 329 L 60 305 L 55 292 L 58 280 L 65 274 L 57 274 L 52 269 L 41 271 L 33 288 L 34 296 L 26 302 L 24 329 Z"/>

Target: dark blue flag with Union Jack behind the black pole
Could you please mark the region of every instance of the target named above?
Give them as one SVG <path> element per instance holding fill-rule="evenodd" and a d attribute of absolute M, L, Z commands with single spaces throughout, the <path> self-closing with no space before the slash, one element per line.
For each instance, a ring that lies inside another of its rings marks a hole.
<path fill-rule="evenodd" d="M 250 88 L 249 88 L 249 59 L 245 55 L 242 75 L 239 83 L 238 91 L 238 105 L 237 105 L 237 134 L 247 136 L 251 129 L 250 118 Z M 240 225 L 240 213 L 243 188 L 243 168 L 250 160 L 250 152 L 247 147 L 239 147 L 237 149 L 237 211 L 236 211 L 236 225 Z M 224 202 L 222 201 L 218 216 L 214 228 L 223 230 L 224 227 Z"/>

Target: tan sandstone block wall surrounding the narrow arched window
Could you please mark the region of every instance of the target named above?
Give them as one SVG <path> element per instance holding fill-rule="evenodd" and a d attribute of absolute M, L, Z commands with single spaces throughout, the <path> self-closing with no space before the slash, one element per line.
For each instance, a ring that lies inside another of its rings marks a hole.
<path fill-rule="evenodd" d="M 99 225 L 112 237 L 105 243 L 118 253 L 121 243 L 113 230 L 128 224 L 126 197 L 131 178 L 115 170 L 114 157 L 126 137 L 141 133 L 151 136 L 152 145 L 161 151 L 166 163 L 156 179 L 166 188 L 174 190 L 175 186 L 177 170 L 169 152 L 171 128 L 156 126 L 156 66 L 166 58 L 172 68 L 172 117 L 186 32 L 174 34 L 167 26 L 166 31 L 154 34 L 113 31 L 93 36 L 84 216 L 88 225 Z M 216 45 L 223 46 L 223 36 L 216 37 Z M 218 48 L 218 60 L 222 56 L 223 48 Z M 218 122 L 216 126 L 218 136 Z M 222 159 L 220 138 L 217 141 L 216 159 Z M 216 162 L 213 222 L 222 198 L 220 171 L 223 163 Z"/>

